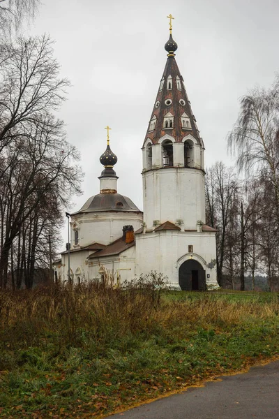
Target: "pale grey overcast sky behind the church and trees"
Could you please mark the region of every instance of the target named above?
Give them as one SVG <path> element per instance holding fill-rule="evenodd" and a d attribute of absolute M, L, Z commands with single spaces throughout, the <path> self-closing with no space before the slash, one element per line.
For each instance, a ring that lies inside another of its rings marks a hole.
<path fill-rule="evenodd" d="M 43 0 L 27 31 L 55 41 L 61 76 L 72 84 L 59 117 L 84 172 L 84 193 L 68 212 L 99 193 L 107 125 L 118 191 L 142 210 L 141 147 L 167 59 L 169 13 L 206 167 L 234 165 L 227 134 L 240 98 L 255 85 L 269 87 L 279 69 L 278 0 Z"/>

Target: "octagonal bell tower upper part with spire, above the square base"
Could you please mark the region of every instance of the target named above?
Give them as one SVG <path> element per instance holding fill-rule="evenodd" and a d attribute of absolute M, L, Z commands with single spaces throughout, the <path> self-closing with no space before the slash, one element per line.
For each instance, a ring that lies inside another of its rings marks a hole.
<path fill-rule="evenodd" d="M 205 222 L 204 143 L 176 64 L 171 25 L 169 31 L 167 63 L 142 147 L 144 223 L 149 231 L 165 221 L 186 229 Z"/>

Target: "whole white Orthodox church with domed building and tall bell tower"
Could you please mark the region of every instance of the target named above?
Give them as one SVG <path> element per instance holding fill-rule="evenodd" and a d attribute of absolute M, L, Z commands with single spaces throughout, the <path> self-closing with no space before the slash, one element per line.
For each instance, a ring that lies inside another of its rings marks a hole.
<path fill-rule="evenodd" d="M 156 271 L 175 289 L 218 287 L 216 230 L 205 224 L 204 142 L 176 64 L 168 17 L 167 63 L 142 145 L 143 212 L 117 192 L 117 156 L 107 126 L 100 193 L 68 214 L 70 246 L 54 263 L 63 282 L 106 276 L 121 286 Z"/>

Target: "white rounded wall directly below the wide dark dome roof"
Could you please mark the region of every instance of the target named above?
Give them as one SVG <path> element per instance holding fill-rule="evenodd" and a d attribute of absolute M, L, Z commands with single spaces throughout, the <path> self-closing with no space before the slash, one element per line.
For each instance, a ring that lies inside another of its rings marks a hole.
<path fill-rule="evenodd" d="M 73 224 L 79 229 L 79 245 L 75 246 Z M 71 249 L 78 249 L 93 242 L 110 244 L 122 235 L 123 226 L 131 225 L 134 230 L 142 227 L 142 213 L 136 212 L 84 212 L 72 216 L 70 231 Z"/>

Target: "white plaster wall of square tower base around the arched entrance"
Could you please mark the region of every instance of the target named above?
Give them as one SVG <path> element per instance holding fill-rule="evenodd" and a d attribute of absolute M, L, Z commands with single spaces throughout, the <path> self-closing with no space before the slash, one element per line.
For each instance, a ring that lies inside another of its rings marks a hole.
<path fill-rule="evenodd" d="M 193 246 L 193 253 L 188 253 L 188 246 Z M 151 270 L 161 272 L 168 277 L 173 287 L 179 288 L 179 267 L 193 259 L 201 263 L 206 271 L 206 284 L 218 285 L 216 265 L 216 237 L 209 232 L 160 231 L 136 235 L 136 274 L 148 274 Z M 209 274 L 209 278 L 207 275 Z"/>

